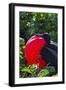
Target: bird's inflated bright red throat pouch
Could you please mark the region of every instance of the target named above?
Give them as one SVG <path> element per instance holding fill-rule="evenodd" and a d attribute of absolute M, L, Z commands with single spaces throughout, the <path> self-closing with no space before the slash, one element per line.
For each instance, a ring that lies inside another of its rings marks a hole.
<path fill-rule="evenodd" d="M 25 47 L 25 59 L 27 63 L 38 64 L 39 68 L 44 68 L 46 66 L 46 62 L 40 56 L 41 50 L 46 46 L 46 40 L 37 35 L 32 36 L 26 43 Z"/>

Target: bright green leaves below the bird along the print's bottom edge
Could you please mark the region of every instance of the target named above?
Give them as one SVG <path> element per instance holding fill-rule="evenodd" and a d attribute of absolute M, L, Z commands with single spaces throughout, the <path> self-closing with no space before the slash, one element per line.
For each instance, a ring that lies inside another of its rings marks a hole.
<path fill-rule="evenodd" d="M 53 66 L 47 66 L 44 69 L 39 69 L 36 64 L 28 65 L 20 68 L 21 77 L 47 77 L 55 75 L 55 69 Z"/>

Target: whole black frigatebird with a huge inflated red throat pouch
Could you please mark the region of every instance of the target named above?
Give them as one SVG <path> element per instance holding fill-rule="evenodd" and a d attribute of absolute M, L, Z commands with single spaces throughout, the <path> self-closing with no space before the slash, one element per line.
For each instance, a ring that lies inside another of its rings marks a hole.
<path fill-rule="evenodd" d="M 35 34 L 26 43 L 25 58 L 28 64 L 38 64 L 45 68 L 47 64 L 58 70 L 57 45 L 50 40 L 48 33 Z"/>

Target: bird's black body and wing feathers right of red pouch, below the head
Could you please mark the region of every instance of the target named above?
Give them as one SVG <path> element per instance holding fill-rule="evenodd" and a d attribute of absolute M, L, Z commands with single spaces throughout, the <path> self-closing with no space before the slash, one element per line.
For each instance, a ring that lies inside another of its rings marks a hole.
<path fill-rule="evenodd" d="M 56 69 L 56 73 L 58 72 L 58 59 L 57 59 L 57 51 L 55 51 L 56 46 L 50 44 L 49 47 L 44 47 L 41 50 L 41 56 L 44 58 L 49 65 L 54 66 Z"/>

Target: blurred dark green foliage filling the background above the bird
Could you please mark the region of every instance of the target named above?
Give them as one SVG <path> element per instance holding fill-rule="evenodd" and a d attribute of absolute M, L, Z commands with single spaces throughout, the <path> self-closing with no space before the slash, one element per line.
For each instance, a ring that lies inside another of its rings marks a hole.
<path fill-rule="evenodd" d="M 20 12 L 20 36 L 27 41 L 34 33 L 50 34 L 51 40 L 57 42 L 57 14 Z"/>

